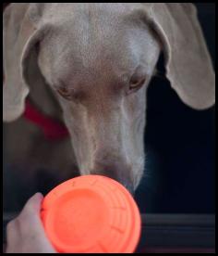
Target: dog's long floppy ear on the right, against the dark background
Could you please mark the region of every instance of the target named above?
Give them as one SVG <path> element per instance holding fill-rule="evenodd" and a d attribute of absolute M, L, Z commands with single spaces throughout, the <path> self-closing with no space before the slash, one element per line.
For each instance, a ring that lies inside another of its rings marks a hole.
<path fill-rule="evenodd" d="M 172 87 L 188 106 L 211 107 L 215 103 L 215 74 L 195 6 L 149 3 L 147 11 L 163 44 L 166 76 Z"/>

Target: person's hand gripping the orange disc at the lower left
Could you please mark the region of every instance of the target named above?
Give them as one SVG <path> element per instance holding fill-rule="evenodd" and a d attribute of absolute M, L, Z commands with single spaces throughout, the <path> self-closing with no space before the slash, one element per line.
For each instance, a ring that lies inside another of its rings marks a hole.
<path fill-rule="evenodd" d="M 6 253 L 55 253 L 46 237 L 40 210 L 42 194 L 31 197 L 18 217 L 6 226 Z"/>

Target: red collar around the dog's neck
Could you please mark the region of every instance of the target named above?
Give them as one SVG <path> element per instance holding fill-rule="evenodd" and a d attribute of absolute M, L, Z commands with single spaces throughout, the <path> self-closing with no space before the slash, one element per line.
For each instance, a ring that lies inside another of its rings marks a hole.
<path fill-rule="evenodd" d="M 28 121 L 36 124 L 42 130 L 46 139 L 58 140 L 68 136 L 68 130 L 65 124 L 44 115 L 39 109 L 30 103 L 30 100 L 26 100 L 24 117 Z"/>

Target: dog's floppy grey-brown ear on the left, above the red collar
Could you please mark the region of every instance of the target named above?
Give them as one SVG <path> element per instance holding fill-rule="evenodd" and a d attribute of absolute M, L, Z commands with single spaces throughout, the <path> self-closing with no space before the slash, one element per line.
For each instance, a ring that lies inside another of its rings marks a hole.
<path fill-rule="evenodd" d="M 42 6 L 41 6 L 42 5 Z M 47 30 L 40 22 L 43 4 L 13 3 L 3 16 L 4 74 L 3 121 L 11 122 L 23 113 L 29 94 L 29 70 L 37 65 L 34 47 Z M 33 64 L 34 63 L 34 64 Z"/>

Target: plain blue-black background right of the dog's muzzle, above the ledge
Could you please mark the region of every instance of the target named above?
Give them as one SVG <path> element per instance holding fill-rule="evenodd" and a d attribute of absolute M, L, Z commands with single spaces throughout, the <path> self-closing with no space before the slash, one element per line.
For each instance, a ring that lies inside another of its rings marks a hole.
<path fill-rule="evenodd" d="M 199 3 L 200 24 L 215 65 L 215 4 Z M 163 57 L 158 67 L 163 69 Z M 214 213 L 215 108 L 188 108 L 164 78 L 148 91 L 145 178 L 136 193 L 142 212 Z M 146 175 L 147 173 L 147 175 Z"/>

